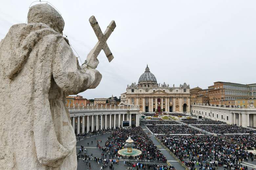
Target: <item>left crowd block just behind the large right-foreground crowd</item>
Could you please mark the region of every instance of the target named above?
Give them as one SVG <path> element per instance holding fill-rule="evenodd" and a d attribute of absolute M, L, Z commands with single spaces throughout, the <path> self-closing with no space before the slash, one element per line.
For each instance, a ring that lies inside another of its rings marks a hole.
<path fill-rule="evenodd" d="M 147 125 L 154 134 L 200 134 L 197 129 L 184 125 Z"/>

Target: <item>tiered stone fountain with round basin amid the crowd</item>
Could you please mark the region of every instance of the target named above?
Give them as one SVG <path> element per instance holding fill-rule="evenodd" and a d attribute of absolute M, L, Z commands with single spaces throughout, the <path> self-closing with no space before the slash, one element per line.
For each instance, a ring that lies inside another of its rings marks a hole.
<path fill-rule="evenodd" d="M 119 155 L 122 155 L 122 156 L 138 156 L 138 155 L 141 154 L 140 150 L 132 148 L 132 147 L 135 146 L 135 144 L 133 144 L 134 141 L 131 139 L 130 136 L 125 142 L 126 142 L 126 144 L 124 146 L 126 148 L 119 150 L 118 151 Z"/>

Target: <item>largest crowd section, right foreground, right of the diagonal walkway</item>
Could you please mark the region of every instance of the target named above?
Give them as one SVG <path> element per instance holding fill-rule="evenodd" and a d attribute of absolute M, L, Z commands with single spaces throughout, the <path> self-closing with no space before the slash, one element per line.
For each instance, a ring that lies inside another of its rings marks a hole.
<path fill-rule="evenodd" d="M 241 142 L 251 140 L 251 136 L 244 137 L 246 139 L 242 141 L 236 141 L 240 142 L 240 145 L 227 140 L 224 135 L 193 135 L 186 138 L 181 135 L 159 135 L 157 138 L 191 169 L 214 170 L 221 166 L 240 170 L 241 167 L 243 168 L 241 162 L 256 159 L 256 155 L 241 147 Z"/>

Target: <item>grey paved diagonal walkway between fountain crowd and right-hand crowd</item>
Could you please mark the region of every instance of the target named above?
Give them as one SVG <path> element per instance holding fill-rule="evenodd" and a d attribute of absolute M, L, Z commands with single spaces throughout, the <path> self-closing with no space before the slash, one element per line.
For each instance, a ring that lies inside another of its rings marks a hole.
<path fill-rule="evenodd" d="M 145 128 L 143 128 L 145 126 L 141 126 L 141 127 L 143 130 L 145 129 Z M 148 133 L 149 130 L 145 129 L 144 132 Z M 154 135 L 149 135 L 149 136 L 155 145 L 161 145 L 161 143 L 157 141 L 157 139 Z M 181 164 L 178 161 L 176 161 L 176 159 L 172 155 L 170 155 L 170 153 L 166 149 L 159 149 L 159 150 L 165 156 L 165 158 L 168 160 L 168 162 L 171 163 L 176 169 L 179 169 L 179 170 L 185 169 L 183 166 L 181 166 Z"/>

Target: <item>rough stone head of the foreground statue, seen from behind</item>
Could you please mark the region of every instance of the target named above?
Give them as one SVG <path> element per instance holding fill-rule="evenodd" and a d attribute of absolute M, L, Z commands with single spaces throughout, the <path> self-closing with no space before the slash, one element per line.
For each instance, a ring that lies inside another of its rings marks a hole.
<path fill-rule="evenodd" d="M 49 4 L 37 4 L 29 9 L 28 23 L 44 23 L 62 34 L 64 20 L 62 16 Z"/>

